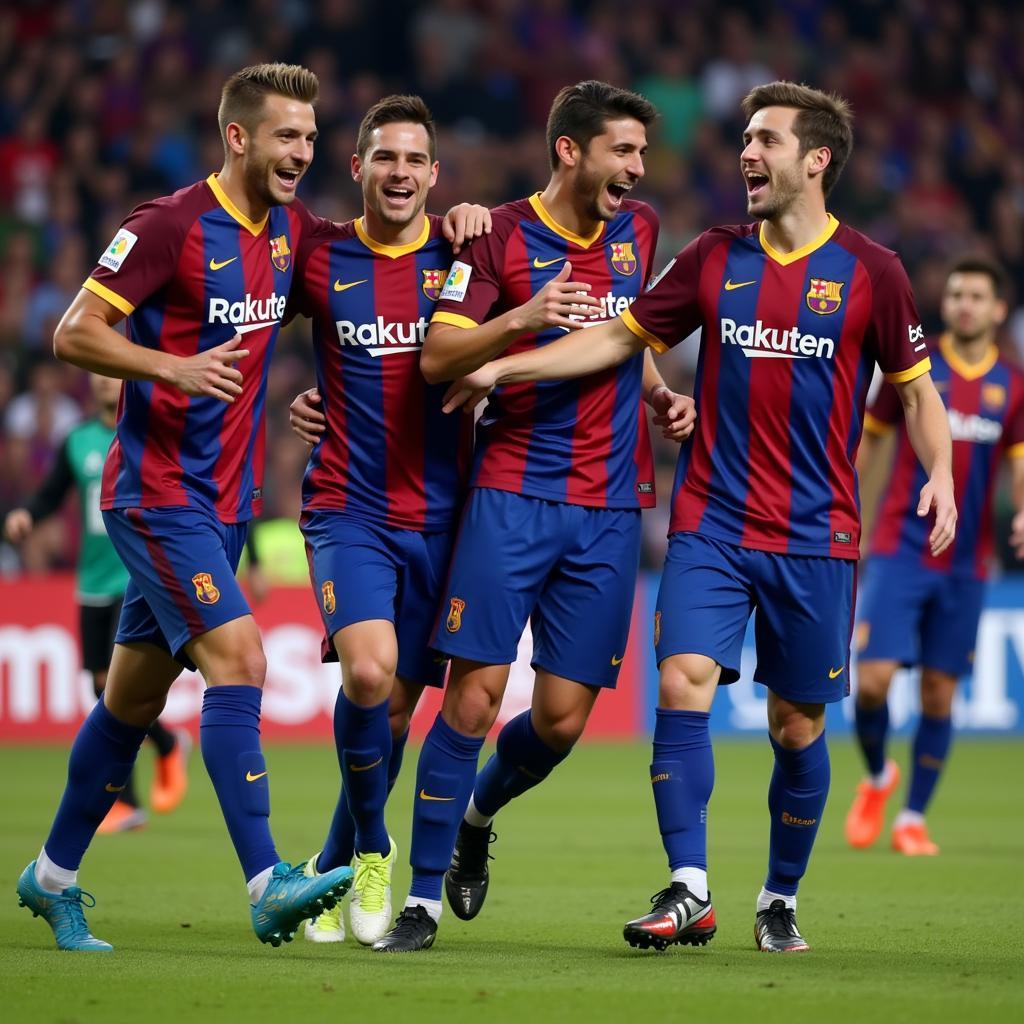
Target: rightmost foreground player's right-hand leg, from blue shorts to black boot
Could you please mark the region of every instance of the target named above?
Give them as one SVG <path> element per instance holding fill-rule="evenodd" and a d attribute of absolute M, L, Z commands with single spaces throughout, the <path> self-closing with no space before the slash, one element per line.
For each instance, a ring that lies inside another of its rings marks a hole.
<path fill-rule="evenodd" d="M 757 898 L 764 952 L 809 949 L 797 890 L 828 798 L 824 706 L 849 692 L 856 565 L 836 558 L 751 553 L 758 602 L 754 678 L 768 689 L 775 767 L 768 787 L 768 872 Z"/>

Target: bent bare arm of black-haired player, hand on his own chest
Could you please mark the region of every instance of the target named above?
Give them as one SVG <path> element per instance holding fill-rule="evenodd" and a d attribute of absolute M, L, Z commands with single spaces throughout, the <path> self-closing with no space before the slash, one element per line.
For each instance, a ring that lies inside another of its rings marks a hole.
<path fill-rule="evenodd" d="M 505 351 L 521 334 L 536 334 L 550 327 L 577 331 L 582 317 L 601 303 L 593 298 L 590 285 L 569 281 L 572 264 L 566 260 L 558 274 L 535 296 L 515 309 L 479 327 L 432 324 L 423 342 L 420 370 L 430 384 L 455 380 L 482 367 Z M 575 314 L 579 318 L 570 318 Z"/>

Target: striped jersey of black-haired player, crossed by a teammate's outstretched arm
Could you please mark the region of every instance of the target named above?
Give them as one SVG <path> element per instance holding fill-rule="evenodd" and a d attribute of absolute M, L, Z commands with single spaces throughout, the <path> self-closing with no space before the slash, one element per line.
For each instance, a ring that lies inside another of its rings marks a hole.
<path fill-rule="evenodd" d="M 644 203 L 624 201 L 590 238 L 558 224 L 540 196 L 507 203 L 493 229 L 453 263 L 434 323 L 473 328 L 514 309 L 572 264 L 601 308 L 584 327 L 617 316 L 641 293 L 657 243 L 657 218 Z M 546 345 L 562 328 L 524 334 L 507 352 Z M 648 508 L 654 470 L 641 403 L 637 356 L 580 380 L 498 388 L 477 425 L 471 485 L 593 508 Z"/>

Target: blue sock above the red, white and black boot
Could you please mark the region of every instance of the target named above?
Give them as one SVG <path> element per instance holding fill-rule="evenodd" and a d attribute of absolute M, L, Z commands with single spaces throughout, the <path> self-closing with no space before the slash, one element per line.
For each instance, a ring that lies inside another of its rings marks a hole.
<path fill-rule="evenodd" d="M 706 711 L 655 710 L 651 787 L 669 867 L 708 869 L 708 801 L 715 756 Z"/>

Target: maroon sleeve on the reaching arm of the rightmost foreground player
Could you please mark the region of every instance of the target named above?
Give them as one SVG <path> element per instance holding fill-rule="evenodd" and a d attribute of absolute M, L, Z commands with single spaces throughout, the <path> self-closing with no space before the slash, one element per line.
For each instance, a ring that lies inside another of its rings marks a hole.
<path fill-rule="evenodd" d="M 678 345 L 700 326 L 701 248 L 694 239 L 623 313 L 623 323 L 656 352 Z"/>

